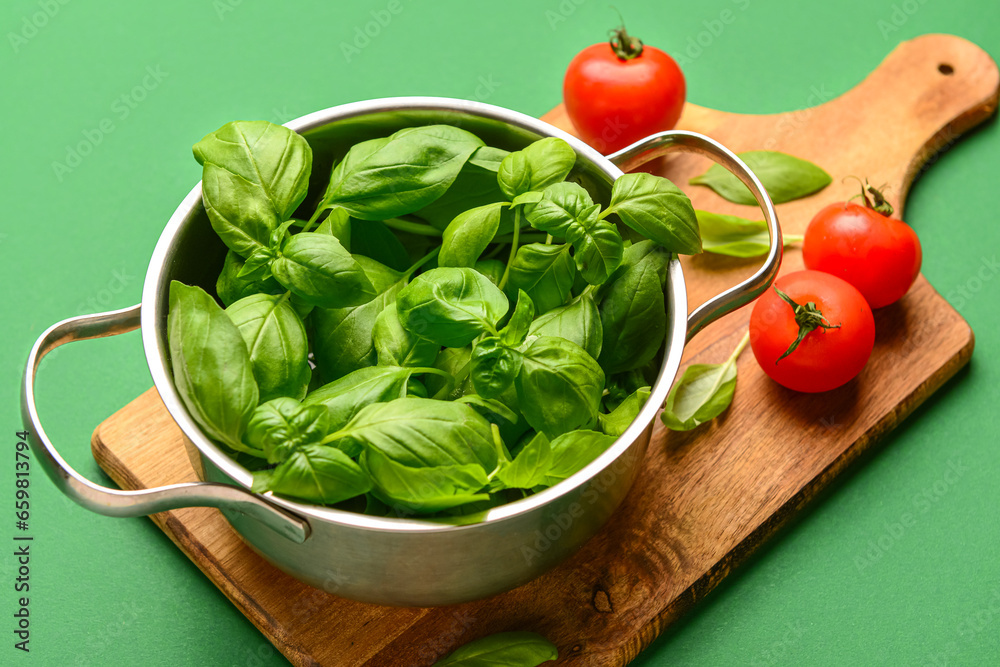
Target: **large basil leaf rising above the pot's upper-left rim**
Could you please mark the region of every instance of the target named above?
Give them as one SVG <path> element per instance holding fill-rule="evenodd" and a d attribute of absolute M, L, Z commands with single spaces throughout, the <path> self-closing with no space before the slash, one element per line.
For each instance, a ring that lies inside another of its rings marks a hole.
<path fill-rule="evenodd" d="M 294 130 L 267 121 L 226 123 L 194 145 L 212 228 L 244 257 L 302 203 L 312 149 Z"/>

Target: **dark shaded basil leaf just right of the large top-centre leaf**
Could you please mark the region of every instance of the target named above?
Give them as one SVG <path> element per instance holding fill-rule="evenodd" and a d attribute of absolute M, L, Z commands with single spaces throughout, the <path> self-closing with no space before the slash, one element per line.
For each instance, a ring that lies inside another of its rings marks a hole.
<path fill-rule="evenodd" d="M 448 191 L 416 211 L 415 215 L 444 231 L 464 211 L 507 201 L 497 183 L 497 170 L 507 155 L 509 153 L 501 148 L 480 146 L 469 157 Z"/>

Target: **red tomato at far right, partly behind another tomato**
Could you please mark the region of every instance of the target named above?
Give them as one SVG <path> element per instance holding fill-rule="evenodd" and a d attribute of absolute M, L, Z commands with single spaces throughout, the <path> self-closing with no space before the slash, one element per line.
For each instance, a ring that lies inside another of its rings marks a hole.
<path fill-rule="evenodd" d="M 876 205 L 885 204 L 874 188 Z M 864 195 L 862 190 L 862 195 Z M 802 259 L 809 269 L 825 271 L 858 288 L 868 305 L 881 308 L 898 301 L 920 273 L 923 254 L 916 232 L 902 220 L 865 205 L 830 204 L 812 219 L 802 241 Z"/>

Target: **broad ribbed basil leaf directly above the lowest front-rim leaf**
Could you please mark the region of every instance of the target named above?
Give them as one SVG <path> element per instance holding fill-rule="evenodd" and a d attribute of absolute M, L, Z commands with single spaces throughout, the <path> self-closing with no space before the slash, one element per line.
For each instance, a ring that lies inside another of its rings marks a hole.
<path fill-rule="evenodd" d="M 374 403 L 328 440 L 343 438 L 414 468 L 475 464 L 492 472 L 497 465 L 489 422 L 468 405 L 451 401 L 400 398 Z"/>

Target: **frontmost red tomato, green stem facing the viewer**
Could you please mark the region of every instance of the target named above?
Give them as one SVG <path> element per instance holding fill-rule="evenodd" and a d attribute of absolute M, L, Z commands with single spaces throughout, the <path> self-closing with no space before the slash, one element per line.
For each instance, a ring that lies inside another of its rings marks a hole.
<path fill-rule="evenodd" d="M 750 347 L 757 363 L 773 380 L 805 392 L 835 389 L 861 372 L 875 345 L 875 319 L 861 292 L 820 271 L 796 271 L 774 281 L 800 308 L 787 303 L 772 287 L 750 314 Z M 781 358 L 795 342 L 808 304 L 822 315 L 814 330 Z M 796 317 L 796 310 L 799 317 Z M 825 328 L 829 326 L 830 328 Z M 836 327 L 836 328 L 833 328 Z"/>

